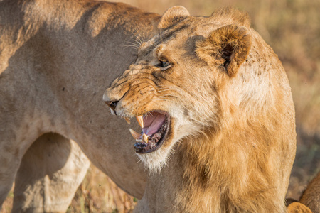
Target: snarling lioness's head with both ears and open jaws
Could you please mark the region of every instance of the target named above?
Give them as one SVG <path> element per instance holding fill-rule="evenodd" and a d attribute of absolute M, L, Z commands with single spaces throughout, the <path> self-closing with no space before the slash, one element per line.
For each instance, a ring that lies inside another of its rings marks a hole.
<path fill-rule="evenodd" d="M 217 18 L 223 13 L 235 14 Z M 231 9 L 203 17 L 175 6 L 158 27 L 103 97 L 113 114 L 137 116 L 142 132 L 130 130 L 134 148 L 150 169 L 164 165 L 182 138 L 221 128 L 220 96 L 239 75 L 252 40 L 247 16 Z"/>

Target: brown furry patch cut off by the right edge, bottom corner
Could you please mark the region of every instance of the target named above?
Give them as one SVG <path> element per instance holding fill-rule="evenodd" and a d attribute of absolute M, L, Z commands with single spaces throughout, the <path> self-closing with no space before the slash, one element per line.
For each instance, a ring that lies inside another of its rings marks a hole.
<path fill-rule="evenodd" d="M 311 180 L 299 202 L 309 207 L 312 212 L 320 213 L 320 173 Z"/>

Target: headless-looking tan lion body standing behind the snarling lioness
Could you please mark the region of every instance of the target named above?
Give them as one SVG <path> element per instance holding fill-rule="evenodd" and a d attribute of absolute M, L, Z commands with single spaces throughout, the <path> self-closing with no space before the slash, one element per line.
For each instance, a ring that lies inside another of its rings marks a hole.
<path fill-rule="evenodd" d="M 16 179 L 15 212 L 64 212 L 87 158 L 142 198 L 144 167 L 102 94 L 159 19 L 103 1 L 0 1 L 0 205 Z"/>

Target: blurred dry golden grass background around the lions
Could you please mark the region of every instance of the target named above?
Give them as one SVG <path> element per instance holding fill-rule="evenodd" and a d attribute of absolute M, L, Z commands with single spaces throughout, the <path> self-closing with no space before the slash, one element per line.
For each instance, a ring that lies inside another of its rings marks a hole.
<path fill-rule="evenodd" d="M 282 61 L 292 87 L 297 120 L 297 156 L 287 197 L 299 199 L 320 171 L 320 1 L 319 0 L 123 0 L 155 13 L 174 5 L 191 15 L 210 16 L 223 6 L 247 11 L 252 28 Z M 1 213 L 12 205 L 9 194 Z M 68 212 L 132 212 L 137 200 L 119 190 L 93 165 L 75 194 Z"/>

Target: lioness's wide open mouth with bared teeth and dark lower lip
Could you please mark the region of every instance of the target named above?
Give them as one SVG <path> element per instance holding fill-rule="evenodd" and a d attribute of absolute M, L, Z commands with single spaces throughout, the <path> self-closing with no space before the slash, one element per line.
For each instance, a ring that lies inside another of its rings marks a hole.
<path fill-rule="evenodd" d="M 130 129 L 136 139 L 134 149 L 136 153 L 151 153 L 164 143 L 169 132 L 170 116 L 161 111 L 149 111 L 145 116 L 137 116 L 137 121 L 142 127 L 142 132 L 137 133 Z"/>

